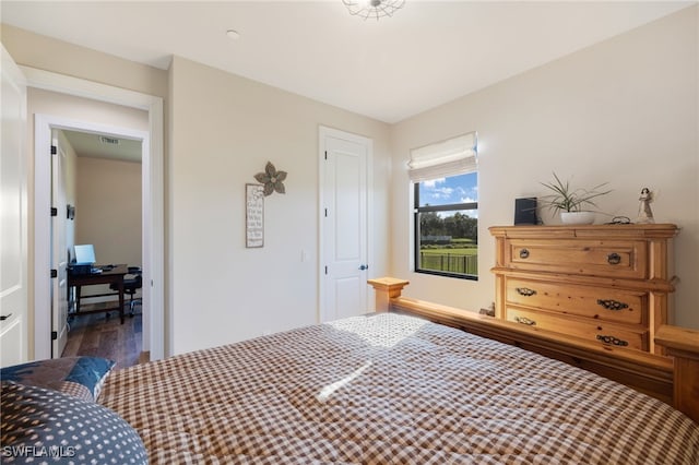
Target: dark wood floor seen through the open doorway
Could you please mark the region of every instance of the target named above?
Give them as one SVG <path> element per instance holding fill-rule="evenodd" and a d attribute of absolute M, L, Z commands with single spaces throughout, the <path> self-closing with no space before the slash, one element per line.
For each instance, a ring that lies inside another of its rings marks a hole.
<path fill-rule="evenodd" d="M 111 305 L 111 303 L 110 303 Z M 85 310 L 99 303 L 84 306 Z M 115 369 L 126 368 L 143 361 L 142 315 L 137 306 L 133 317 L 127 313 L 123 324 L 116 311 L 109 313 L 74 315 L 69 320 L 70 331 L 63 357 L 90 355 L 115 360 Z M 146 360 L 147 361 L 147 360 Z"/>

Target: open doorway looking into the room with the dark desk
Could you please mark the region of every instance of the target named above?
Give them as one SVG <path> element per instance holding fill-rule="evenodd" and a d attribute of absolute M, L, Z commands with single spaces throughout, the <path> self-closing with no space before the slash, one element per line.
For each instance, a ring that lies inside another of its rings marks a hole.
<path fill-rule="evenodd" d="M 76 243 L 96 245 L 99 251 L 97 257 L 104 264 L 114 262 L 137 269 L 147 269 L 151 265 L 150 246 L 144 238 L 147 237 L 145 234 L 147 226 L 152 224 L 152 218 L 149 216 L 152 208 L 146 206 L 144 200 L 147 196 L 143 195 L 143 192 L 147 193 L 150 190 L 150 179 L 143 169 L 143 160 L 149 158 L 149 139 L 146 131 L 35 115 L 35 150 L 37 154 L 47 152 L 55 154 L 50 157 L 50 163 L 36 157 L 37 172 L 48 171 L 48 176 L 40 178 L 37 176 L 35 186 L 36 201 L 47 198 L 51 207 L 56 210 L 46 228 L 42 228 L 38 222 L 36 228 L 37 246 L 49 245 L 47 259 L 50 261 L 50 269 L 56 271 L 52 272 L 56 277 L 50 282 L 37 276 L 37 300 L 45 297 L 44 293 L 48 291 L 48 301 L 45 306 L 36 307 L 35 315 L 36 325 L 46 323 L 51 329 L 48 333 L 51 339 L 46 344 L 50 349 L 48 357 L 57 358 L 63 354 L 69 336 L 67 329 L 71 307 L 73 318 L 74 310 L 81 303 L 97 305 L 97 310 L 99 305 L 103 305 L 103 308 L 114 308 L 114 303 L 111 306 L 103 303 L 114 298 L 114 289 L 110 290 L 109 286 L 88 286 L 85 293 L 87 299 L 81 299 L 80 296 L 75 299 L 75 293 L 68 291 L 70 279 L 67 279 L 64 263 L 69 263 L 74 258 L 71 254 L 74 253 Z M 46 169 L 49 165 L 50 167 Z M 59 211 L 60 214 L 58 214 Z M 37 255 L 40 253 L 37 252 Z M 142 274 L 140 277 L 142 278 Z M 39 284 L 45 285 L 44 289 L 39 289 Z M 145 296 L 147 293 L 139 291 L 139 294 L 138 298 L 142 302 L 140 308 L 150 309 L 147 303 L 151 299 Z M 91 295 L 94 297 L 90 297 Z M 73 296 L 73 299 L 70 296 Z M 49 311 L 42 311 L 47 308 Z M 85 314 L 84 311 L 81 313 Z M 99 313 L 103 317 L 110 314 Z M 139 325 L 134 326 L 133 322 L 129 322 L 128 326 L 119 326 L 119 332 L 110 331 L 108 335 L 111 339 L 118 336 L 129 341 L 132 350 L 135 350 L 133 346 L 138 348 L 137 354 L 119 357 L 122 360 L 131 360 L 127 365 L 132 365 L 132 361 L 139 358 L 141 349 L 149 348 L 146 337 L 149 332 L 143 332 L 142 327 L 143 325 L 149 327 L 151 314 L 149 311 L 140 313 Z M 80 322 L 73 321 L 73 323 Z M 129 326 L 139 330 L 140 341 L 135 341 L 135 344 L 133 344 L 134 335 L 123 332 L 125 327 Z M 75 324 L 74 327 L 80 327 L 80 324 Z M 120 347 L 123 341 L 111 341 L 109 345 L 114 346 L 112 348 L 119 348 L 123 354 Z M 39 343 L 44 342 L 37 341 L 37 347 Z M 94 353 L 96 347 L 90 347 L 90 350 L 93 353 L 84 355 L 112 355 Z M 37 356 L 37 358 L 47 356 Z"/>

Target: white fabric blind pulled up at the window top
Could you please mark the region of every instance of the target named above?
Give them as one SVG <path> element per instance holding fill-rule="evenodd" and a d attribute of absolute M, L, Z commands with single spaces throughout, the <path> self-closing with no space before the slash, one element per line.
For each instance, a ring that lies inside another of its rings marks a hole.
<path fill-rule="evenodd" d="M 411 151 L 407 163 L 411 181 L 420 182 L 475 171 L 477 134 L 470 132 Z"/>

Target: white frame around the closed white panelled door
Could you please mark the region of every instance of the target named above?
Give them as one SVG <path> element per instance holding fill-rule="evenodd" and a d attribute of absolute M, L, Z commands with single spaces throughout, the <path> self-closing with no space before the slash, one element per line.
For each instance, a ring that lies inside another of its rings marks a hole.
<path fill-rule="evenodd" d="M 325 278 L 324 266 L 325 260 L 325 227 L 324 227 L 324 207 L 325 207 L 325 139 L 335 138 L 343 139 L 364 145 L 367 151 L 367 263 L 370 266 L 375 264 L 374 260 L 374 140 L 364 135 L 352 132 L 342 131 L 325 126 L 318 127 L 318 314 L 317 322 L 323 322 L 327 319 L 328 311 L 325 309 Z M 371 270 L 371 269 L 370 269 Z M 371 272 L 369 272 L 371 273 Z M 367 311 L 374 311 L 374 299 L 371 293 L 367 293 L 366 301 Z"/>

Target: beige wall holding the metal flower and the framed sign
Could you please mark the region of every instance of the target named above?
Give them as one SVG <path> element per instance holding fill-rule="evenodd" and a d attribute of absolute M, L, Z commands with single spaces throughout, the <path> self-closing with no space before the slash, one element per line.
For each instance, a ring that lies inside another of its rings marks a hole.
<path fill-rule="evenodd" d="M 173 353 L 317 322 L 321 124 L 374 140 L 372 270 L 386 273 L 387 124 L 178 57 L 170 92 Z M 286 194 L 265 199 L 264 247 L 246 249 L 245 184 L 268 160 L 288 171 Z"/>

